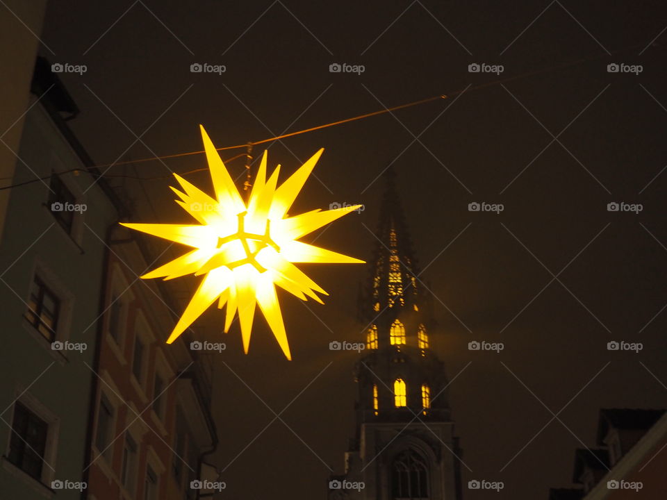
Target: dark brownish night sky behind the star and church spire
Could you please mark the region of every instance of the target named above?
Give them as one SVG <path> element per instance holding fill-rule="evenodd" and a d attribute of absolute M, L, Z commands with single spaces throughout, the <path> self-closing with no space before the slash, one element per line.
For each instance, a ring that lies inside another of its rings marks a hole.
<path fill-rule="evenodd" d="M 657 175 L 667 164 L 667 33 L 646 48 L 667 24 L 662 3 L 51 1 L 42 39 L 51 62 L 88 65 L 63 81 L 81 108 L 72 128 L 99 163 L 201 149 L 200 123 L 222 147 L 498 79 L 470 74 L 473 62 L 502 64 L 505 78 L 591 58 L 270 147 L 270 164 L 285 172 L 325 147 L 315 169 L 321 183 L 311 178 L 297 208 L 364 203 L 361 215 L 318 239 L 360 258 L 374 244 L 367 227 L 377 222 L 383 186 L 373 181 L 393 163 L 416 256 L 422 266 L 435 259 L 423 276 L 436 297 L 436 349 L 450 378 L 463 369 L 450 402 L 464 483 L 500 480 L 494 498 L 544 499 L 548 487 L 570 484 L 574 450 L 594 444 L 599 408 L 667 406 L 667 174 Z M 192 74 L 195 62 L 227 72 Z M 334 62 L 365 72 L 331 74 Z M 643 72 L 609 74 L 611 62 Z M 413 142 L 424 128 L 422 144 Z M 145 144 L 133 144 L 131 131 Z M 547 147 L 550 134 L 558 140 Z M 191 156 L 166 165 L 184 172 L 205 163 Z M 229 168 L 242 172 L 242 160 Z M 169 174 L 159 162 L 138 169 Z M 208 183 L 205 172 L 189 179 Z M 174 181 L 125 181 L 137 219 L 187 220 L 168 185 Z M 471 201 L 505 209 L 470 213 Z M 643 212 L 609 213 L 610 201 L 643 203 Z M 222 468 L 274 417 L 245 384 L 279 412 L 328 366 L 281 415 L 287 426 L 274 422 L 229 465 L 221 498 L 324 498 L 323 462 L 343 468 L 354 432 L 354 355 L 328 344 L 361 339 L 356 294 L 367 270 L 308 272 L 331 296 L 325 306 L 304 306 L 281 294 L 292 362 L 259 316 L 249 356 L 233 330 L 212 360 Z M 557 280 L 544 288 L 551 273 Z M 188 280 L 174 286 L 179 299 L 192 290 Z M 214 311 L 201 319 L 201 335 L 219 338 L 219 318 Z M 470 340 L 505 349 L 468 351 Z M 644 349 L 610 353 L 609 340 Z M 532 440 L 563 406 L 561 422 Z"/>

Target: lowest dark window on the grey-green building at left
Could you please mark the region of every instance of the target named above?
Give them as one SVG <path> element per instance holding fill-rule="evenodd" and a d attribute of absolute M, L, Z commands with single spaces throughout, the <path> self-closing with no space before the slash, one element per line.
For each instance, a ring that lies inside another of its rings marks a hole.
<path fill-rule="evenodd" d="M 20 401 L 15 403 L 8 460 L 38 481 L 42 480 L 48 431 L 47 422 Z"/>

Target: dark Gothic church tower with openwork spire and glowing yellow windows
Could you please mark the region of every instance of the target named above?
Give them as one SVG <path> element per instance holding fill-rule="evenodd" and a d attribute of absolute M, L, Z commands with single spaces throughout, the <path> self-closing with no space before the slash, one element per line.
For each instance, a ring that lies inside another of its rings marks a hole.
<path fill-rule="evenodd" d="M 329 500 L 460 500 L 461 450 L 447 403 L 437 328 L 407 232 L 393 172 L 386 174 L 370 281 L 360 301 L 367 324 L 355 365 L 356 433 L 345 474 Z"/>

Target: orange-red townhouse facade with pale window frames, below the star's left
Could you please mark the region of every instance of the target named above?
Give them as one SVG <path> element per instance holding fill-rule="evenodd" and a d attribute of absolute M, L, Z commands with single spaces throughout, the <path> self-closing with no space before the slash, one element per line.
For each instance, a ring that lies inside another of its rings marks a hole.
<path fill-rule="evenodd" d="M 211 370 L 188 333 L 164 343 L 173 306 L 159 282 L 138 279 L 149 264 L 135 238 L 117 226 L 109 240 L 88 498 L 195 500 L 220 484 L 201 474 L 217 444 Z"/>

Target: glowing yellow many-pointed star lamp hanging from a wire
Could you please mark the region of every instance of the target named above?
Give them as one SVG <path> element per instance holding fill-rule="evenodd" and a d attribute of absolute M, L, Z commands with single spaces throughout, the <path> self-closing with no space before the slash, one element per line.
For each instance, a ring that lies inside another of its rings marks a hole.
<path fill-rule="evenodd" d="M 243 350 L 247 353 L 255 305 L 258 303 L 283 353 L 291 359 L 275 285 L 304 301 L 308 296 L 322 303 L 315 292 L 327 292 L 300 271 L 295 263 L 363 263 L 363 260 L 297 240 L 360 205 L 324 212 L 318 209 L 288 217 L 288 210 L 324 149 L 315 153 L 280 186 L 277 185 L 280 165 L 266 179 L 265 151 L 246 203 L 204 127 L 200 128 L 215 198 L 176 174 L 174 176 L 183 192 L 172 188 L 181 199 L 176 203 L 199 224 L 122 224 L 192 248 L 142 278 L 169 280 L 186 274 L 204 275 L 167 344 L 174 342 L 217 300 L 218 308 L 227 304 L 225 333 L 229 331 L 238 310 Z"/>

